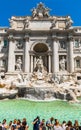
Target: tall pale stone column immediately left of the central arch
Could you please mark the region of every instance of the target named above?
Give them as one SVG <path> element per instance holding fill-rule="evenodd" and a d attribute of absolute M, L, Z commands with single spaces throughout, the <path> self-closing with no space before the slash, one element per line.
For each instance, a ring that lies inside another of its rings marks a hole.
<path fill-rule="evenodd" d="M 29 36 L 25 36 L 25 47 L 24 47 L 24 71 L 29 73 L 30 58 L 29 58 Z"/>

